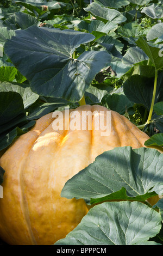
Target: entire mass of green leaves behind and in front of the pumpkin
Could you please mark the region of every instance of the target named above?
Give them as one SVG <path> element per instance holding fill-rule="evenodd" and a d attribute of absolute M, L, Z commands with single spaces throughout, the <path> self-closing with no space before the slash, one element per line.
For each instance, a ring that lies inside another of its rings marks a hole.
<path fill-rule="evenodd" d="M 2 0 L 0 150 L 43 115 L 78 107 L 83 96 L 145 131 L 145 145 L 162 147 L 162 24 L 158 0 Z M 56 245 L 162 245 L 163 199 L 153 208 L 146 202 L 163 194 L 162 166 L 152 149 L 98 156 L 67 181 L 62 196 L 100 204 Z M 3 175 L 0 167 L 0 184 Z M 103 203 L 115 199 L 125 202 Z"/>

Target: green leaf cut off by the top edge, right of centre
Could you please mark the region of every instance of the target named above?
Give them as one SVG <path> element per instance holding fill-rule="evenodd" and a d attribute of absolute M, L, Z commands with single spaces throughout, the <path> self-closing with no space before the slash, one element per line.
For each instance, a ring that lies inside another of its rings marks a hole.
<path fill-rule="evenodd" d="M 129 4 L 129 1 L 127 0 L 94 0 L 94 2 L 103 7 L 110 7 L 114 9 L 118 9 Z"/>

